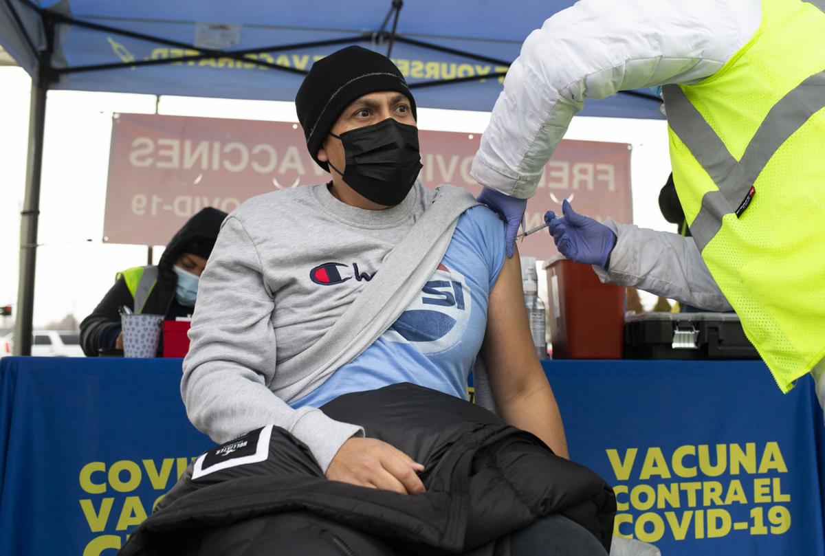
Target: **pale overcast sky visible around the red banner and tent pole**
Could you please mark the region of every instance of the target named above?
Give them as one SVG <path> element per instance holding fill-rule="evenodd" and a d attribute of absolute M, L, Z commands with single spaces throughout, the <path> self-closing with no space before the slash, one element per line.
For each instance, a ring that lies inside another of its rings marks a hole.
<path fill-rule="evenodd" d="M 26 180 L 29 91 L 21 68 L 0 68 L 0 305 L 17 301 L 20 210 Z M 97 92 L 50 92 L 40 192 L 35 327 L 73 313 L 81 320 L 114 283 L 115 272 L 146 263 L 146 247 L 101 242 L 106 172 L 114 112 L 153 113 L 155 97 Z M 288 102 L 162 97 L 161 114 L 296 121 Z M 486 112 L 421 108 L 423 130 L 481 133 Z M 576 118 L 567 139 L 633 145 L 634 223 L 673 230 L 658 209 L 670 163 L 667 127 L 658 120 Z M 92 242 L 86 239 L 91 238 Z M 548 241 L 551 241 L 548 238 Z M 154 250 L 158 261 L 162 249 Z"/>

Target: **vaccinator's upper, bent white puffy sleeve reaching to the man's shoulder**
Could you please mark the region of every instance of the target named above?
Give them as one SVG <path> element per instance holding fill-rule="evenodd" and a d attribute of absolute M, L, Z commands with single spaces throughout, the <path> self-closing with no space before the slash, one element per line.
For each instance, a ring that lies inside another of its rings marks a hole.
<path fill-rule="evenodd" d="M 760 0 L 582 0 L 521 47 L 473 162 L 483 186 L 525 199 L 587 98 L 713 75 L 751 39 Z"/>

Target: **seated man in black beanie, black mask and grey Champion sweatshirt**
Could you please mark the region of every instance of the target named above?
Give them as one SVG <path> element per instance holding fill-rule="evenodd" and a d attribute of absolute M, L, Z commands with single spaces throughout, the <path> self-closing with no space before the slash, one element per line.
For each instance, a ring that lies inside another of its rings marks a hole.
<path fill-rule="evenodd" d="M 295 102 L 309 152 L 332 181 L 257 196 L 224 221 L 183 365 L 191 421 L 218 442 L 274 424 L 309 447 L 328 479 L 423 492 L 421 464 L 318 408 L 403 382 L 465 399 L 480 351 L 502 419 L 567 457 L 519 262 L 504 257 L 503 224 L 483 206 L 460 216 L 421 294 L 361 355 L 322 377 L 284 372 L 382 271 L 434 198 L 417 181 L 415 102 L 389 59 L 339 50 L 314 64 Z M 577 554 L 604 554 L 590 540 L 592 551 Z"/>

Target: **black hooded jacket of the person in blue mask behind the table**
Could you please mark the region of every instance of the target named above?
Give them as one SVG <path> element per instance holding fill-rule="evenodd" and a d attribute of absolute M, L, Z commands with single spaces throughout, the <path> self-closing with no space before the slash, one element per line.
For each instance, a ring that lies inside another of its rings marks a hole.
<path fill-rule="evenodd" d="M 175 318 L 191 313 L 192 308 L 184 308 L 175 300 L 177 274 L 172 270 L 177 257 L 186 252 L 193 243 L 213 245 L 218 238 L 220 224 L 227 214 L 222 210 L 207 207 L 189 219 L 167 243 L 166 250 L 158 262 L 158 282 L 149 294 L 143 312 L 162 314 Z M 118 275 L 115 285 L 106 292 L 92 314 L 80 323 L 80 345 L 87 356 L 97 356 L 98 349 L 114 347 L 120 332 L 120 306 L 131 308 L 134 297 L 123 276 Z"/>

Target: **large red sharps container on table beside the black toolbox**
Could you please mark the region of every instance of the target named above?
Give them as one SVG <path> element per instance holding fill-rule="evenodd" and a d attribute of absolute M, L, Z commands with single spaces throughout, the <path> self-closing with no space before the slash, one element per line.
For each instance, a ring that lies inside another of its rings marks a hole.
<path fill-rule="evenodd" d="M 562 255 L 544 263 L 554 359 L 621 359 L 625 288 L 602 284 L 592 266 Z"/>

